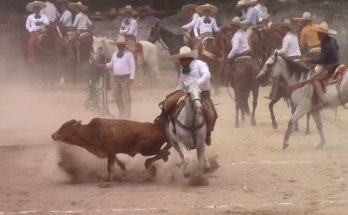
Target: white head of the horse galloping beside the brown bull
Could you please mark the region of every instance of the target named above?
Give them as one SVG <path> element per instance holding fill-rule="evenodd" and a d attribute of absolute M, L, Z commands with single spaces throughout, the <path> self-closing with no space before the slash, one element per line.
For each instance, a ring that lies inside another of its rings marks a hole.
<path fill-rule="evenodd" d="M 187 88 L 187 101 L 195 112 L 202 112 L 201 89 L 196 80 L 188 80 L 185 82 Z"/>

